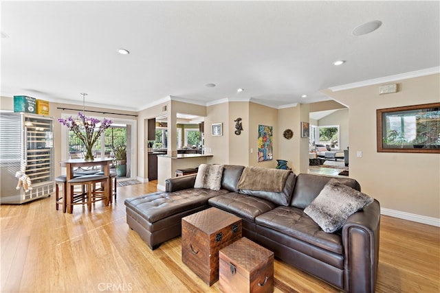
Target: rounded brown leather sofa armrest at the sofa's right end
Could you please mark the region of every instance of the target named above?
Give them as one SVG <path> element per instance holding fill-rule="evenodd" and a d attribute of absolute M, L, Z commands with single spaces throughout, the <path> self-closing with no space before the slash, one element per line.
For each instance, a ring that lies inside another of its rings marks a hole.
<path fill-rule="evenodd" d="M 342 227 L 345 290 L 375 292 L 379 262 L 380 204 L 351 215 Z"/>

